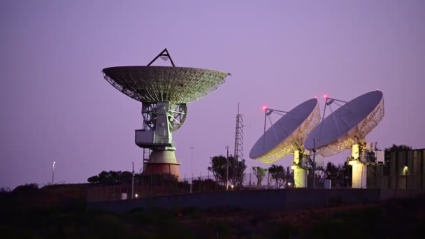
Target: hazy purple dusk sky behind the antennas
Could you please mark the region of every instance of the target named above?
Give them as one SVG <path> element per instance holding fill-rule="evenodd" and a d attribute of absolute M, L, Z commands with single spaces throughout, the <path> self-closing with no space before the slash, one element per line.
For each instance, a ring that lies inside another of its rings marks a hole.
<path fill-rule="evenodd" d="M 380 89 L 385 116 L 367 140 L 425 147 L 425 1 L 1 1 L 0 187 L 86 182 L 141 168 L 141 103 L 103 79 L 168 48 L 177 66 L 232 74 L 189 104 L 173 134 L 182 176 L 233 152 L 238 102 L 248 158 L 261 106 L 290 110 L 323 94 Z M 164 63 L 168 64 L 168 62 Z M 327 160 L 336 163 L 348 151 Z M 279 161 L 289 165 L 291 157 Z M 249 168 L 247 173 L 249 173 Z"/>

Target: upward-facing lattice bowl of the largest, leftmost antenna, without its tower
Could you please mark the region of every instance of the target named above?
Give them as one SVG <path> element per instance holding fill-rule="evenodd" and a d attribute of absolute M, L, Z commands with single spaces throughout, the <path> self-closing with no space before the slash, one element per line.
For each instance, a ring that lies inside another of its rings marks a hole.
<path fill-rule="evenodd" d="M 217 89 L 228 73 L 176 66 L 116 66 L 103 69 L 106 80 L 136 101 L 189 103 Z"/>

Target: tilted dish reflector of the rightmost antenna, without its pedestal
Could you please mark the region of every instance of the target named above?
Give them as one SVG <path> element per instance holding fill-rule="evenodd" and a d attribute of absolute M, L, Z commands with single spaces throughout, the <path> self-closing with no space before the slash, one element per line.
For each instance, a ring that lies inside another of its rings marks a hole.
<path fill-rule="evenodd" d="M 305 148 L 331 156 L 364 140 L 384 117 L 384 96 L 376 90 L 363 94 L 328 115 L 308 136 Z M 315 139 L 315 142 L 313 142 Z"/>

